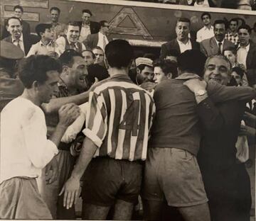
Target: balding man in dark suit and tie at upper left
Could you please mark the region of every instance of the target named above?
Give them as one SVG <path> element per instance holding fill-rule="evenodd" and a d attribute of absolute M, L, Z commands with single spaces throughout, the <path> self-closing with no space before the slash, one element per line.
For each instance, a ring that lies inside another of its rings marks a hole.
<path fill-rule="evenodd" d="M 16 17 L 8 18 L 6 30 L 8 30 L 11 35 L 4 38 L 4 41 L 20 47 L 26 56 L 31 48 L 32 42 L 29 35 L 23 35 L 21 21 Z"/>

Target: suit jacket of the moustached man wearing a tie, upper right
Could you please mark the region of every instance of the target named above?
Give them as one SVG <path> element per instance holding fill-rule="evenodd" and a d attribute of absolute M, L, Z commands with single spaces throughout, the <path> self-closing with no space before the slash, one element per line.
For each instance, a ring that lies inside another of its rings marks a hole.
<path fill-rule="evenodd" d="M 223 51 L 226 50 L 228 47 L 235 47 L 235 45 L 233 44 L 233 42 L 230 42 L 229 40 L 224 39 Z M 200 50 L 201 52 L 203 52 L 203 54 L 206 55 L 206 57 L 209 57 L 210 55 L 217 55 L 218 45 L 215 40 L 215 37 L 202 40 L 200 42 Z"/>

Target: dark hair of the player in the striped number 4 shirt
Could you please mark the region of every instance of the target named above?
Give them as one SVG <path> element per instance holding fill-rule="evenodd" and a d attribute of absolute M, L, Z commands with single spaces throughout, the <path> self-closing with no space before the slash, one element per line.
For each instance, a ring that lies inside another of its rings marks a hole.
<path fill-rule="evenodd" d="M 117 39 L 106 45 L 105 55 L 110 67 L 121 69 L 129 66 L 134 57 L 134 51 L 127 40 Z"/>

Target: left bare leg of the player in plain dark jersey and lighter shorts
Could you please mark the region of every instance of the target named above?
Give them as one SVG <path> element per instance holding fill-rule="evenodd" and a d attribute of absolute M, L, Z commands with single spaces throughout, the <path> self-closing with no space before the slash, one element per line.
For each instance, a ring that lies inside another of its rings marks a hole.
<path fill-rule="evenodd" d="M 142 200 L 144 219 L 145 220 L 161 220 L 163 202 L 157 200 Z"/>

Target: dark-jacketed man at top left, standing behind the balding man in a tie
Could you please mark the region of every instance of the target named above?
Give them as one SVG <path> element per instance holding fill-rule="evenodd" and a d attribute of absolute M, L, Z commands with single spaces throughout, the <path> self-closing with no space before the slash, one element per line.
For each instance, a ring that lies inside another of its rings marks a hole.
<path fill-rule="evenodd" d="M 14 6 L 14 17 L 18 18 L 21 21 L 23 36 L 28 36 L 31 33 L 31 29 L 30 29 L 29 23 L 21 19 L 22 14 L 23 14 L 23 8 L 21 6 Z M 1 39 L 4 39 L 9 35 L 10 33 L 8 32 L 8 30 L 6 30 L 6 27 L 4 26 L 1 31 Z"/>

